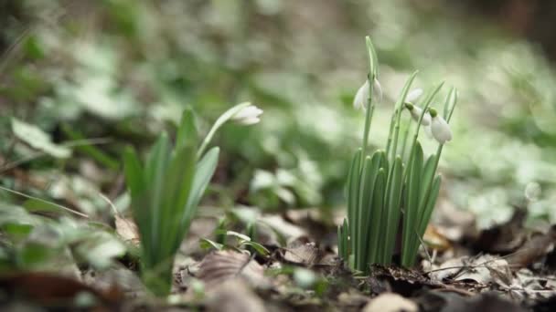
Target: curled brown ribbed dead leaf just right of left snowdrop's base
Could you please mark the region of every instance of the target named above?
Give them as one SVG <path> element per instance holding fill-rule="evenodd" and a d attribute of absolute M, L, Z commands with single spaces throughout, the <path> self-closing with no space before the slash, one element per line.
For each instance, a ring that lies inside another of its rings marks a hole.
<path fill-rule="evenodd" d="M 262 265 L 252 260 L 248 254 L 228 250 L 205 256 L 199 265 L 197 277 L 208 289 L 235 277 L 245 279 L 252 286 L 267 284 Z"/>

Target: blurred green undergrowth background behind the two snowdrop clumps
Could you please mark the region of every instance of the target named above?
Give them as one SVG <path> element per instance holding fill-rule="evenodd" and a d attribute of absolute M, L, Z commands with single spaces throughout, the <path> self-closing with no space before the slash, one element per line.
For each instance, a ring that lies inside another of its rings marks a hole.
<path fill-rule="evenodd" d="M 372 141 L 386 141 L 391 105 L 414 69 L 419 87 L 444 80 L 460 91 L 454 140 L 441 161 L 445 201 L 476 213 L 481 227 L 507 220 L 514 206 L 528 207 L 531 222 L 554 223 L 550 7 L 540 1 L 3 1 L 0 181 L 107 218 L 98 192 L 126 205 L 120 196 L 125 144 L 148 147 L 186 107 L 206 133 L 225 109 L 251 101 L 264 109 L 262 122 L 219 132 L 215 144 L 223 152 L 206 202 L 330 212 L 344 205 L 348 161 L 362 136 L 364 118 L 351 101 L 366 77 L 369 35 L 385 93 Z M 85 138 L 98 140 L 89 145 Z M 8 203 L 27 211 L 37 205 L 0 196 L 5 211 L 13 211 Z"/>

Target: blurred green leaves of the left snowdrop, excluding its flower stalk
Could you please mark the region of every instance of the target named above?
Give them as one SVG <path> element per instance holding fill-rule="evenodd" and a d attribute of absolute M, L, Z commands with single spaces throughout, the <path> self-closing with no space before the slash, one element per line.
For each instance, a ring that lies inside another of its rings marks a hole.
<path fill-rule="evenodd" d="M 218 162 L 218 148 L 198 159 L 197 143 L 194 117 L 186 110 L 175 148 L 163 133 L 144 164 L 134 149 L 124 153 L 125 179 L 141 236 L 142 278 L 156 296 L 170 291 L 174 257 Z"/>

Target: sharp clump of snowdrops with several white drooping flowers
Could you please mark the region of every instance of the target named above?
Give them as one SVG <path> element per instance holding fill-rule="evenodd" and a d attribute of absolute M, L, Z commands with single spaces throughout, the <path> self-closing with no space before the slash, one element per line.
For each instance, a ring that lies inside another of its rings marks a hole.
<path fill-rule="evenodd" d="M 457 100 L 457 91 L 450 89 L 441 114 L 431 103 L 444 83 L 422 96 L 422 89 L 412 89 L 414 72 L 394 104 L 386 148 L 370 153 L 371 121 L 382 90 L 377 54 L 369 37 L 366 43 L 369 76 L 354 99 L 354 106 L 365 111 L 363 142 L 348 172 L 348 217 L 337 231 L 339 255 L 364 273 L 372 264 L 390 265 L 400 242 L 400 265 L 414 264 L 440 190 L 436 169 L 444 143 L 452 140 L 448 122 Z M 403 114 L 411 116 L 411 124 L 401 136 Z M 438 142 L 436 152 L 426 158 L 419 141 L 423 129 Z"/>

